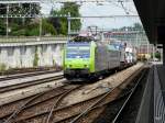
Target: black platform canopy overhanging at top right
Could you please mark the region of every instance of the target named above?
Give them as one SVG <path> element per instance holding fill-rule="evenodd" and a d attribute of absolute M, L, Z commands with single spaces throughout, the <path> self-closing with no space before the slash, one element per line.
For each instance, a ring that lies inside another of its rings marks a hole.
<path fill-rule="evenodd" d="M 133 0 L 150 43 L 165 44 L 165 0 Z"/>

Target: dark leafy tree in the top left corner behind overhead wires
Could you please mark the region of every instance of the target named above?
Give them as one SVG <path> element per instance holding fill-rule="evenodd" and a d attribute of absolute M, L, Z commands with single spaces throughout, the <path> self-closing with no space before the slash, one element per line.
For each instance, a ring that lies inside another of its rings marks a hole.
<path fill-rule="evenodd" d="M 0 14 L 7 14 L 7 4 L 0 4 Z M 9 4 L 9 15 L 36 15 L 40 13 L 41 7 L 37 3 L 13 3 Z M 21 19 L 21 18 L 9 18 L 9 27 L 11 29 L 11 33 L 9 35 L 23 35 L 25 34 L 26 25 L 30 25 L 33 22 L 33 19 Z M 6 19 L 0 19 L 0 35 L 6 35 Z"/>

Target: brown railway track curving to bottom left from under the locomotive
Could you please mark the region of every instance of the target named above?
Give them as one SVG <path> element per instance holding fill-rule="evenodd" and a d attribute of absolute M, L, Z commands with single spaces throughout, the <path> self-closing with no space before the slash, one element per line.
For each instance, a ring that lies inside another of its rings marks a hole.
<path fill-rule="evenodd" d="M 32 115 L 32 112 L 36 114 L 37 112 L 48 111 L 47 122 L 50 122 L 52 111 L 58 107 L 63 98 L 80 87 L 79 85 L 65 85 L 47 92 L 22 99 L 21 105 L 18 102 L 7 104 L 1 107 L 0 119 L 4 123 L 12 123 L 16 116 L 24 115 L 23 111 L 25 111 L 26 115 Z"/>

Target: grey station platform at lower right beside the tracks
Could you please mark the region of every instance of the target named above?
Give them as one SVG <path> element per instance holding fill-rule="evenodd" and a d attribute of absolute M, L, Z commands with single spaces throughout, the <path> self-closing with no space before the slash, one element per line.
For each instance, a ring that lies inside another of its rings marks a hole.
<path fill-rule="evenodd" d="M 153 63 L 135 123 L 165 123 L 165 66 Z"/>

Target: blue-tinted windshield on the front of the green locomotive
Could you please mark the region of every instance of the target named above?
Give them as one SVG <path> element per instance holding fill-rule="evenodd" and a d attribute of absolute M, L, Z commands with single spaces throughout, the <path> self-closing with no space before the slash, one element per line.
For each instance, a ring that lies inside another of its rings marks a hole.
<path fill-rule="evenodd" d="M 67 58 L 89 58 L 90 44 L 89 43 L 72 43 L 66 46 Z"/>

